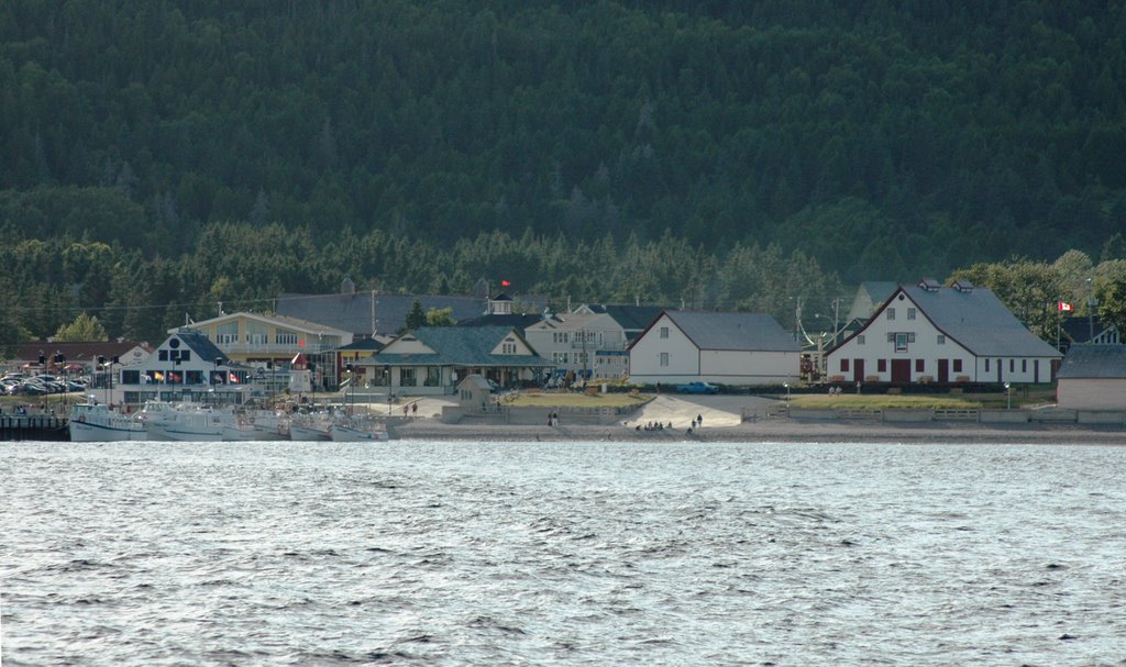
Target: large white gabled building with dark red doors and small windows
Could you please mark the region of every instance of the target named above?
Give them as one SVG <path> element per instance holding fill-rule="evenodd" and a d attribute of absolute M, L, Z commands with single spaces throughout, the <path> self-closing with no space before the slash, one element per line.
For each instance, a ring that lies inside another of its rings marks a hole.
<path fill-rule="evenodd" d="M 928 279 L 900 286 L 825 367 L 844 382 L 1049 382 L 1061 357 L 991 290 Z"/>

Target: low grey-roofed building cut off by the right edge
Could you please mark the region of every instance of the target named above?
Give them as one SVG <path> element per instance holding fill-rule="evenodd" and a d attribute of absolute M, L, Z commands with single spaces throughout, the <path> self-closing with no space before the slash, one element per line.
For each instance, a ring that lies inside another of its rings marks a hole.
<path fill-rule="evenodd" d="M 1126 409 L 1126 345 L 1073 345 L 1057 379 L 1060 407 Z"/>

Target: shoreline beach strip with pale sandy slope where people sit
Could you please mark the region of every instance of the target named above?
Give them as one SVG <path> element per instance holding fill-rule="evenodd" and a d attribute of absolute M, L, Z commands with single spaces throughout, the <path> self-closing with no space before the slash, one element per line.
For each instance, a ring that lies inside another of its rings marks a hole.
<path fill-rule="evenodd" d="M 427 398 L 420 404 L 420 418 L 396 426 L 402 440 L 465 441 L 637 441 L 637 442 L 900 442 L 922 443 L 1043 443 L 1043 444 L 1126 444 L 1126 429 L 1120 426 L 1080 426 L 1075 424 L 977 424 L 965 422 L 926 422 L 887 424 L 869 421 L 798 421 L 788 417 L 758 416 L 743 421 L 743 414 L 766 415 L 770 398 L 752 396 L 668 396 L 654 398 L 624 422 L 608 425 L 577 425 L 561 420 L 558 426 L 484 425 L 470 420 L 445 424 L 441 407 L 452 402 Z M 703 427 L 690 434 L 690 422 L 703 417 Z M 637 430 L 638 424 L 672 424 L 661 431 Z"/>

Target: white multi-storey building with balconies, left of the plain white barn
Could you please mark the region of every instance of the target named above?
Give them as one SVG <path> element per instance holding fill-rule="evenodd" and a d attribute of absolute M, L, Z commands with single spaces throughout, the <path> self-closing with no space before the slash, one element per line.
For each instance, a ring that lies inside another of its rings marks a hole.
<path fill-rule="evenodd" d="M 629 369 L 625 331 L 606 314 L 548 315 L 524 330 L 524 337 L 557 373 L 620 378 Z"/>

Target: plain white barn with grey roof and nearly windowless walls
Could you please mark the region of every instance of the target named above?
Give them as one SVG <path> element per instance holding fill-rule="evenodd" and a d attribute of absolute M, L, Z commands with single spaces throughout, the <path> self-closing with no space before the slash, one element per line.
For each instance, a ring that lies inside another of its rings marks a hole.
<path fill-rule="evenodd" d="M 664 310 L 629 346 L 637 384 L 780 385 L 801 366 L 797 341 L 761 313 Z"/>

